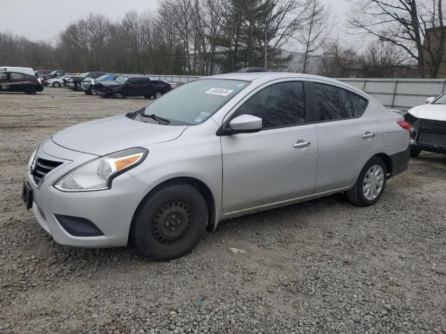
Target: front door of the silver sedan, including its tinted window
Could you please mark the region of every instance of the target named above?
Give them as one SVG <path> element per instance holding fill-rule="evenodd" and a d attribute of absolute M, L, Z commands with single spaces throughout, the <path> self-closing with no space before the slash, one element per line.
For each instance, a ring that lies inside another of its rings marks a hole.
<path fill-rule="evenodd" d="M 306 124 L 300 81 L 259 88 L 227 120 L 262 118 L 260 132 L 222 136 L 225 213 L 311 195 L 316 186 L 316 125 Z M 226 120 L 225 120 L 226 123 Z"/>

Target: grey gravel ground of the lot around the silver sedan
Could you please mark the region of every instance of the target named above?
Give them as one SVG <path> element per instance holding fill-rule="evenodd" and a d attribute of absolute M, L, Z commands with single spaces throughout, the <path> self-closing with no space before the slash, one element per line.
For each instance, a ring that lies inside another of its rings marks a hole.
<path fill-rule="evenodd" d="M 20 200 L 32 151 L 147 102 L 0 93 L 0 333 L 446 333 L 446 155 L 410 161 L 374 207 L 232 219 L 168 263 L 55 244 Z"/>

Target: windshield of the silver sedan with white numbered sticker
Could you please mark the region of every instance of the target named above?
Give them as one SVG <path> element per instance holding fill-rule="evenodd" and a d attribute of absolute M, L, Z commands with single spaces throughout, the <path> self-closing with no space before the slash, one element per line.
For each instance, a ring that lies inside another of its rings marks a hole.
<path fill-rule="evenodd" d="M 197 125 L 210 118 L 249 84 L 249 81 L 228 79 L 192 81 L 148 104 L 144 113 L 186 125 Z"/>

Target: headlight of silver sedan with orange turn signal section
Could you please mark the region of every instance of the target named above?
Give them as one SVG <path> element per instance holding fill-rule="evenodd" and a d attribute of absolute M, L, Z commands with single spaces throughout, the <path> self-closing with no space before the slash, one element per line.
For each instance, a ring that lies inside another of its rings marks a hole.
<path fill-rule="evenodd" d="M 61 191 L 96 191 L 110 189 L 114 177 L 141 164 L 145 148 L 130 148 L 91 160 L 61 177 L 54 187 Z"/>

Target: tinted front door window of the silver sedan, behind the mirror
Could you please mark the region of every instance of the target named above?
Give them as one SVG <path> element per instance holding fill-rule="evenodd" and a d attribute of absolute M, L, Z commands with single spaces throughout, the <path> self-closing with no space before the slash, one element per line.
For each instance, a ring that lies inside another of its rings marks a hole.
<path fill-rule="evenodd" d="M 263 129 L 305 123 L 307 110 L 302 82 L 283 82 L 263 88 L 240 106 L 234 116 L 245 114 L 261 118 Z"/>

